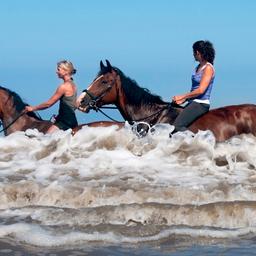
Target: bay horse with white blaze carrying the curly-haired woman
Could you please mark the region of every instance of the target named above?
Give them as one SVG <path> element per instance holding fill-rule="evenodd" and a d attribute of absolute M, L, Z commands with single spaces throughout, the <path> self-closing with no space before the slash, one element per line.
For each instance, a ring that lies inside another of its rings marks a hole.
<path fill-rule="evenodd" d="M 183 110 L 139 87 L 121 70 L 106 62 L 107 66 L 101 61 L 97 78 L 79 96 L 81 111 L 88 112 L 105 104 L 114 104 L 125 120 L 143 121 L 152 126 L 156 123 L 172 124 Z M 243 104 L 210 110 L 188 129 L 194 133 L 210 130 L 217 141 L 243 133 L 256 135 L 256 105 Z"/>

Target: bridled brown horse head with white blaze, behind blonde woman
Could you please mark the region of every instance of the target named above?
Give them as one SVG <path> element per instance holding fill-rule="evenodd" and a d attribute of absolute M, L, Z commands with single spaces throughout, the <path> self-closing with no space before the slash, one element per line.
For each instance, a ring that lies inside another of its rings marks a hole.
<path fill-rule="evenodd" d="M 108 60 L 107 65 L 100 62 L 100 72 L 96 79 L 78 97 L 78 109 L 88 113 L 91 109 L 97 110 L 105 104 L 112 104 L 117 100 L 117 86 L 120 77 Z"/>

